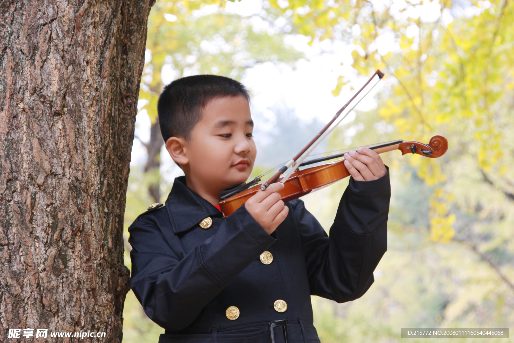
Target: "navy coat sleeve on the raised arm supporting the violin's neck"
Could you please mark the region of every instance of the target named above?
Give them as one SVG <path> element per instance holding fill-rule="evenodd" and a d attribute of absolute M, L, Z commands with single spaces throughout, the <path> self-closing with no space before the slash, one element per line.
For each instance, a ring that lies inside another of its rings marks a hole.
<path fill-rule="evenodd" d="M 391 187 L 386 175 L 368 182 L 350 179 L 330 235 L 298 201 L 294 208 L 312 295 L 342 303 L 360 298 L 387 249 Z"/>

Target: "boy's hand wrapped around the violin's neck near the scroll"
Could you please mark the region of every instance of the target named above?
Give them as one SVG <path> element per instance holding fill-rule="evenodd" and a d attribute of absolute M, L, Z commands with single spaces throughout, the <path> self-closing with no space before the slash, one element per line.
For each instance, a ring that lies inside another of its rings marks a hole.
<path fill-rule="evenodd" d="M 387 173 L 380 155 L 370 148 L 360 147 L 344 154 L 344 158 L 344 166 L 356 181 L 376 180 Z"/>

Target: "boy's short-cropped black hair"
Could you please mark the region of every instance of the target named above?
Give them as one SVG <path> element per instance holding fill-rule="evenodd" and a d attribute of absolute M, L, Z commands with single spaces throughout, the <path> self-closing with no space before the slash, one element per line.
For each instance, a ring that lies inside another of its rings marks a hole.
<path fill-rule="evenodd" d="M 159 126 L 164 142 L 173 136 L 191 139 L 191 131 L 201 119 L 201 111 L 210 100 L 240 95 L 250 103 L 246 87 L 224 76 L 195 75 L 168 84 L 157 102 Z"/>

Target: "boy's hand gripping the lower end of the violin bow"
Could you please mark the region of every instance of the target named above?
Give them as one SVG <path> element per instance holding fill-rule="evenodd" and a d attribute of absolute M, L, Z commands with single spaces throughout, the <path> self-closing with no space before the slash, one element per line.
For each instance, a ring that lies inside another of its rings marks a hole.
<path fill-rule="evenodd" d="M 262 228 L 270 234 L 286 219 L 289 208 L 280 200 L 278 193 L 284 184 L 273 183 L 264 191 L 258 190 L 246 201 L 246 210 Z"/>

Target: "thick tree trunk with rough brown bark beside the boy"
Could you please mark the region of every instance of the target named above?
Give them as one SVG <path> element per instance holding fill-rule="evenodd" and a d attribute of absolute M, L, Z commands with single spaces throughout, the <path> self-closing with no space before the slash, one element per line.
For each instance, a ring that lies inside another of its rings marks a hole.
<path fill-rule="evenodd" d="M 0 341 L 27 328 L 122 340 L 123 216 L 152 4 L 0 2 Z"/>

